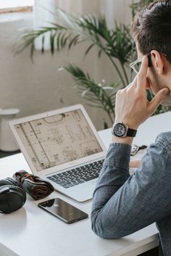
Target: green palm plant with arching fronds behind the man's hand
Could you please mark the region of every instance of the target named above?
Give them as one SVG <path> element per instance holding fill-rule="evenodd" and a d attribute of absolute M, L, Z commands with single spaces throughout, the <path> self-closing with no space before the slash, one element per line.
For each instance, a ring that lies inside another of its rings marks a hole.
<path fill-rule="evenodd" d="M 134 17 L 139 9 L 150 2 L 150 0 L 141 0 L 138 3 L 133 2 L 130 5 L 132 16 Z M 135 44 L 130 37 L 130 25 L 115 22 L 114 28 L 109 29 L 103 15 L 99 15 L 99 17 L 94 15 L 75 17 L 75 15 L 69 15 L 62 9 L 57 9 L 57 20 L 58 22 L 51 23 L 49 27 L 23 33 L 18 51 L 20 52 L 30 46 L 30 56 L 33 58 L 35 40 L 41 37 L 41 51 L 43 53 L 45 36 L 49 37 L 51 54 L 64 48 L 70 50 L 84 41 L 88 42 L 85 56 L 94 46 L 98 47 L 99 58 L 101 54 L 105 54 L 117 72 L 118 79 L 113 83 L 107 84 L 105 80 L 97 83 L 88 73 L 73 64 L 65 65 L 63 70 L 72 75 L 78 90 L 83 98 L 88 101 L 88 104 L 102 108 L 107 112 L 111 121 L 109 126 L 111 126 L 114 122 L 114 105 L 117 90 L 124 88 L 133 80 L 133 73 L 129 68 L 129 64 L 136 58 L 136 51 Z M 148 97 L 149 99 L 152 98 L 151 91 L 148 91 Z M 168 110 L 171 110 L 171 107 L 159 106 L 155 114 Z M 104 122 L 104 128 L 107 127 L 108 124 Z"/>

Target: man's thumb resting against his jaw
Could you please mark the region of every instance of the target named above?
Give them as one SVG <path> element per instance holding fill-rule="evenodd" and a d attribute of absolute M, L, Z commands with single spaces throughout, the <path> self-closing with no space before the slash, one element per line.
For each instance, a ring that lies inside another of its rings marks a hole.
<path fill-rule="evenodd" d="M 165 96 L 169 93 L 169 88 L 162 88 L 161 90 L 158 91 L 156 96 L 154 96 L 153 99 L 151 99 L 151 102 L 149 102 L 149 111 L 152 113 L 155 112 L 159 104 L 162 103 L 162 100 L 165 98 Z"/>

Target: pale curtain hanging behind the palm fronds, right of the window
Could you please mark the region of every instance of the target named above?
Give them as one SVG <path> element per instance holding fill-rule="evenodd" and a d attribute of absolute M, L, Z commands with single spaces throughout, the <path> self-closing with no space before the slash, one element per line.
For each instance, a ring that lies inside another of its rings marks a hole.
<path fill-rule="evenodd" d="M 55 11 L 59 7 L 68 13 L 104 14 L 109 28 L 113 28 L 114 20 L 128 20 L 128 5 L 132 0 L 35 0 L 34 27 L 49 26 L 55 22 Z M 41 38 L 36 41 L 36 49 L 41 49 Z M 45 38 L 45 49 L 49 49 L 49 41 Z"/>

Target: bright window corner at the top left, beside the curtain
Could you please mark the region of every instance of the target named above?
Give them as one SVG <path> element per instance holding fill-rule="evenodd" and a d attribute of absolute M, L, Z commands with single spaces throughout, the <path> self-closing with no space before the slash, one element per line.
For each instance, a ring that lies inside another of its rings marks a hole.
<path fill-rule="evenodd" d="M 0 12 L 18 12 L 33 7 L 33 0 L 0 0 Z"/>

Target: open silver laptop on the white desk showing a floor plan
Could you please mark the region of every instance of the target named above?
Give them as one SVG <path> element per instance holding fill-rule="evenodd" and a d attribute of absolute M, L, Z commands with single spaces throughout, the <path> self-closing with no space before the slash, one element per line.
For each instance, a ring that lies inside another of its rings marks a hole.
<path fill-rule="evenodd" d="M 78 202 L 93 197 L 107 149 L 81 104 L 11 120 L 9 127 L 33 175 Z"/>

